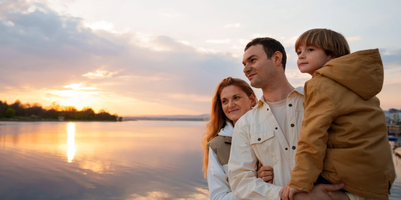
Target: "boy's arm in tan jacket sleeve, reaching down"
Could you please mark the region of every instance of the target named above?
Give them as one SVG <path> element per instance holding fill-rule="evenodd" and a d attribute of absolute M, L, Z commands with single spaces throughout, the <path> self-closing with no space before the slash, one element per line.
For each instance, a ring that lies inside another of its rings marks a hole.
<path fill-rule="evenodd" d="M 296 166 L 292 170 L 288 185 L 310 192 L 323 170 L 328 140 L 327 130 L 338 116 L 338 109 L 330 94 L 317 89 L 305 94 L 304 107 L 304 120 L 295 154 Z"/>

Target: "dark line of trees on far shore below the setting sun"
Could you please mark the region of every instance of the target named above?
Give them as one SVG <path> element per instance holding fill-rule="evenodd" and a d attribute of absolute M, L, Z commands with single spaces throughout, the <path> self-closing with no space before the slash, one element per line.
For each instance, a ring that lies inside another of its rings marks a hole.
<path fill-rule="evenodd" d="M 41 104 L 22 104 L 16 100 L 13 104 L 7 104 L 6 101 L 0 101 L 0 118 L 17 118 L 21 120 L 58 120 L 64 117 L 64 120 L 96 120 L 96 121 L 117 121 L 117 114 L 110 114 L 105 110 L 95 113 L 92 108 L 85 107 L 77 110 L 73 106 L 60 106 L 53 102 L 48 108 L 43 108 Z"/>

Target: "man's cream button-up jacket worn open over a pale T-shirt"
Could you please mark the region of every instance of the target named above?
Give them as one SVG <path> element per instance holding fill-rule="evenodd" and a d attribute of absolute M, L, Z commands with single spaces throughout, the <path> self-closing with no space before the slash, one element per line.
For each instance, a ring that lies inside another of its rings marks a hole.
<path fill-rule="evenodd" d="M 289 143 L 263 96 L 235 123 L 228 178 L 239 199 L 280 200 L 279 191 L 290 181 L 295 166 L 298 135 L 304 118 L 303 93 L 303 87 L 299 87 L 287 97 Z M 258 160 L 263 166 L 273 167 L 273 184 L 256 177 Z"/>

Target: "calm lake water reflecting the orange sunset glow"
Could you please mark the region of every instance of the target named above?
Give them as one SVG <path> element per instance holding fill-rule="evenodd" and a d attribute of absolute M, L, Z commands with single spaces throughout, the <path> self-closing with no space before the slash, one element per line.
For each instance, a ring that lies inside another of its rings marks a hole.
<path fill-rule="evenodd" d="M 185 121 L 0 122 L 0 200 L 209 199 L 204 131 Z M 391 192 L 401 199 L 401 179 Z"/>

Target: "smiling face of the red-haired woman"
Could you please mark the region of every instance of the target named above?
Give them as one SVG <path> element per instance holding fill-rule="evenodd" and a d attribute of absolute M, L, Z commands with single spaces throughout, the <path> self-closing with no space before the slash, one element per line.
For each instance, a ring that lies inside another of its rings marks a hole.
<path fill-rule="evenodd" d="M 233 124 L 255 103 L 254 98 L 249 98 L 241 88 L 233 85 L 223 88 L 220 98 L 223 112 Z"/>

